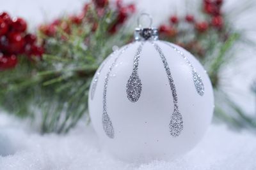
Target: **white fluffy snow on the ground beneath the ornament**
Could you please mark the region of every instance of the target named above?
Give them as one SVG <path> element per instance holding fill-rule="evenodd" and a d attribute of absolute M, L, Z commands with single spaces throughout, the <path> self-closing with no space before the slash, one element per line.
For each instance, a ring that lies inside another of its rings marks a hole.
<path fill-rule="evenodd" d="M 212 124 L 191 152 L 169 162 L 129 164 L 101 150 L 97 136 L 83 121 L 66 135 L 31 131 L 28 121 L 0 114 L 1 170 L 153 170 L 153 169 L 256 169 L 256 137 Z"/>

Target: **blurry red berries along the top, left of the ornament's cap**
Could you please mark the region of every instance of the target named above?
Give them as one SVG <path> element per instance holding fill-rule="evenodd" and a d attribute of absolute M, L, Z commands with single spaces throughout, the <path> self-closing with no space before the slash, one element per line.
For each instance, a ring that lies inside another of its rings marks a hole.
<path fill-rule="evenodd" d="M 134 13 L 135 6 L 134 4 L 124 5 L 122 1 L 117 0 L 115 4 L 115 13 L 116 18 L 115 20 L 109 24 L 108 33 L 114 34 L 120 25 L 124 24 L 125 20 Z M 93 19 L 92 15 L 86 15 L 89 8 L 95 10 L 98 17 L 102 17 L 109 8 L 112 6 L 109 5 L 108 0 L 92 0 L 90 3 L 86 3 L 83 6 L 83 10 L 80 11 L 76 15 L 70 15 L 68 18 L 58 18 L 49 24 L 40 25 L 39 31 L 42 32 L 45 36 L 56 36 L 57 30 L 61 29 L 67 34 L 70 34 L 72 25 L 81 25 L 83 24 L 90 24 L 92 32 L 94 32 L 97 27 L 98 23 L 97 20 Z M 58 28 L 58 29 L 57 29 Z M 64 35 L 61 36 L 61 39 L 66 39 Z"/>

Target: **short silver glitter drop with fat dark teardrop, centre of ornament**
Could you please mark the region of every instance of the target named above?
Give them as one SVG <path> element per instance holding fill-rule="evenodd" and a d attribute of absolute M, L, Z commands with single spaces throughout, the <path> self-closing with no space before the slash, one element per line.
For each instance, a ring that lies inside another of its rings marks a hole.
<path fill-rule="evenodd" d="M 142 50 L 143 43 L 138 47 L 136 55 L 133 60 L 132 74 L 126 84 L 127 98 L 131 102 L 136 102 L 140 98 L 142 84 L 138 74 L 138 66 L 140 60 L 140 53 Z"/>

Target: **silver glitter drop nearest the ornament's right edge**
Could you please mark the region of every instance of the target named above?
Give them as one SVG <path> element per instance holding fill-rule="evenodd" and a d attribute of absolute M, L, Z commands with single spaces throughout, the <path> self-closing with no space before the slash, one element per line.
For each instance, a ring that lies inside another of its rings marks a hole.
<path fill-rule="evenodd" d="M 166 45 L 172 47 L 173 50 L 175 50 L 175 52 L 179 53 L 179 55 L 182 56 L 183 59 L 186 61 L 186 63 L 189 65 L 189 67 L 191 68 L 192 75 L 193 75 L 193 81 L 194 81 L 194 84 L 195 84 L 196 92 L 200 96 L 203 96 L 204 95 L 204 83 L 203 83 L 202 78 L 200 77 L 200 75 L 196 72 L 195 67 L 192 66 L 192 64 L 188 60 L 188 58 L 184 55 L 184 53 L 180 52 L 180 50 L 178 48 L 171 45 L 170 43 L 167 43 L 167 42 L 164 42 L 164 43 Z"/>

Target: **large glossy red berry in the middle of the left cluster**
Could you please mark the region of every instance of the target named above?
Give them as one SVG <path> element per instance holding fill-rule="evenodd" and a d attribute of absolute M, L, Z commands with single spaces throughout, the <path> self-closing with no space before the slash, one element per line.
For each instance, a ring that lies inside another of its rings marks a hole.
<path fill-rule="evenodd" d="M 10 32 L 7 35 L 8 39 L 8 52 L 10 53 L 19 53 L 22 51 L 24 47 L 24 38 L 20 34 L 20 32 Z"/>

